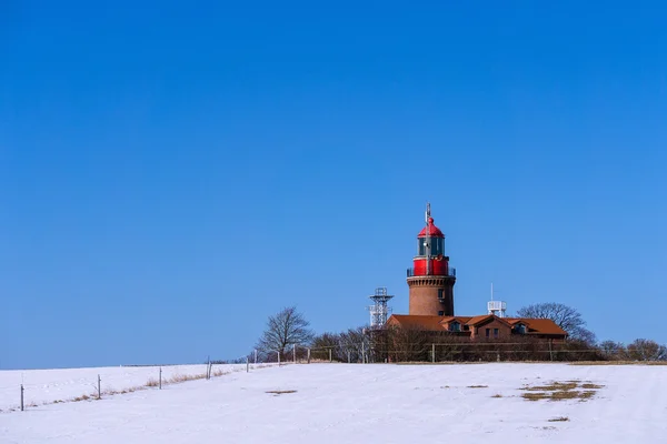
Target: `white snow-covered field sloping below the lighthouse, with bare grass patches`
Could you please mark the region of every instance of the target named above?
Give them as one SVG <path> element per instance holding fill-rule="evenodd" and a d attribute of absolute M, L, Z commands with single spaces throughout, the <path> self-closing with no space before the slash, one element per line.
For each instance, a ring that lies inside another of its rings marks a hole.
<path fill-rule="evenodd" d="M 62 373 L 56 377 L 50 372 Z M 79 382 L 82 387 L 88 380 L 94 381 L 98 370 L 50 372 L 40 377 L 84 381 Z M 127 385 L 141 383 L 147 376 L 128 373 L 128 379 L 135 380 Z M 0 372 L 0 386 L 13 387 L 16 377 L 13 372 Z M 118 386 L 125 384 L 121 374 L 116 381 Z M 552 382 L 578 386 L 551 392 L 521 390 Z M 593 396 L 586 397 L 586 392 Z M 576 396 L 559 401 L 524 397 L 552 393 Z M 7 400 L 7 392 L 0 392 L 0 404 L 12 404 L 16 389 L 10 395 Z M 667 442 L 667 366 L 286 365 L 173 384 L 162 391 L 0 413 L 2 444 L 415 444 L 476 438 Z"/>

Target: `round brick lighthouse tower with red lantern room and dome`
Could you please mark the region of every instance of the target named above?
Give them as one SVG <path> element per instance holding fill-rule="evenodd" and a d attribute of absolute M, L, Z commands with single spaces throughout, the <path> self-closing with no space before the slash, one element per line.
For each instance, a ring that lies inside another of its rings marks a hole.
<path fill-rule="evenodd" d="M 410 314 L 454 316 L 456 270 L 445 255 L 445 234 L 434 225 L 430 203 L 426 206 L 426 226 L 417 235 L 414 268 L 408 269 Z"/>

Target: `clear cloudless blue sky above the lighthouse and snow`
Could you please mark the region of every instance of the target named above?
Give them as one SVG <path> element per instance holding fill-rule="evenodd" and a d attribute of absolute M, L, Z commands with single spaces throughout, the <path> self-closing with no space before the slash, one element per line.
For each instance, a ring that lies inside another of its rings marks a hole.
<path fill-rule="evenodd" d="M 202 362 L 296 304 L 557 301 L 667 343 L 659 2 L 0 6 L 0 369 Z"/>

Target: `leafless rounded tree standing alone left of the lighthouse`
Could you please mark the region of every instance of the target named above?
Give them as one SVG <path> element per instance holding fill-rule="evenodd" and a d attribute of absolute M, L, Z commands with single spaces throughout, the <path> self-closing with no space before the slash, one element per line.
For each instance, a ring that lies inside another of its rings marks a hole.
<path fill-rule="evenodd" d="M 269 316 L 267 329 L 259 339 L 256 349 L 265 356 L 271 353 L 285 355 L 288 347 L 293 344 L 307 344 L 312 341 L 313 332 L 310 323 L 297 312 L 295 306 L 282 309 L 279 313 Z"/>

